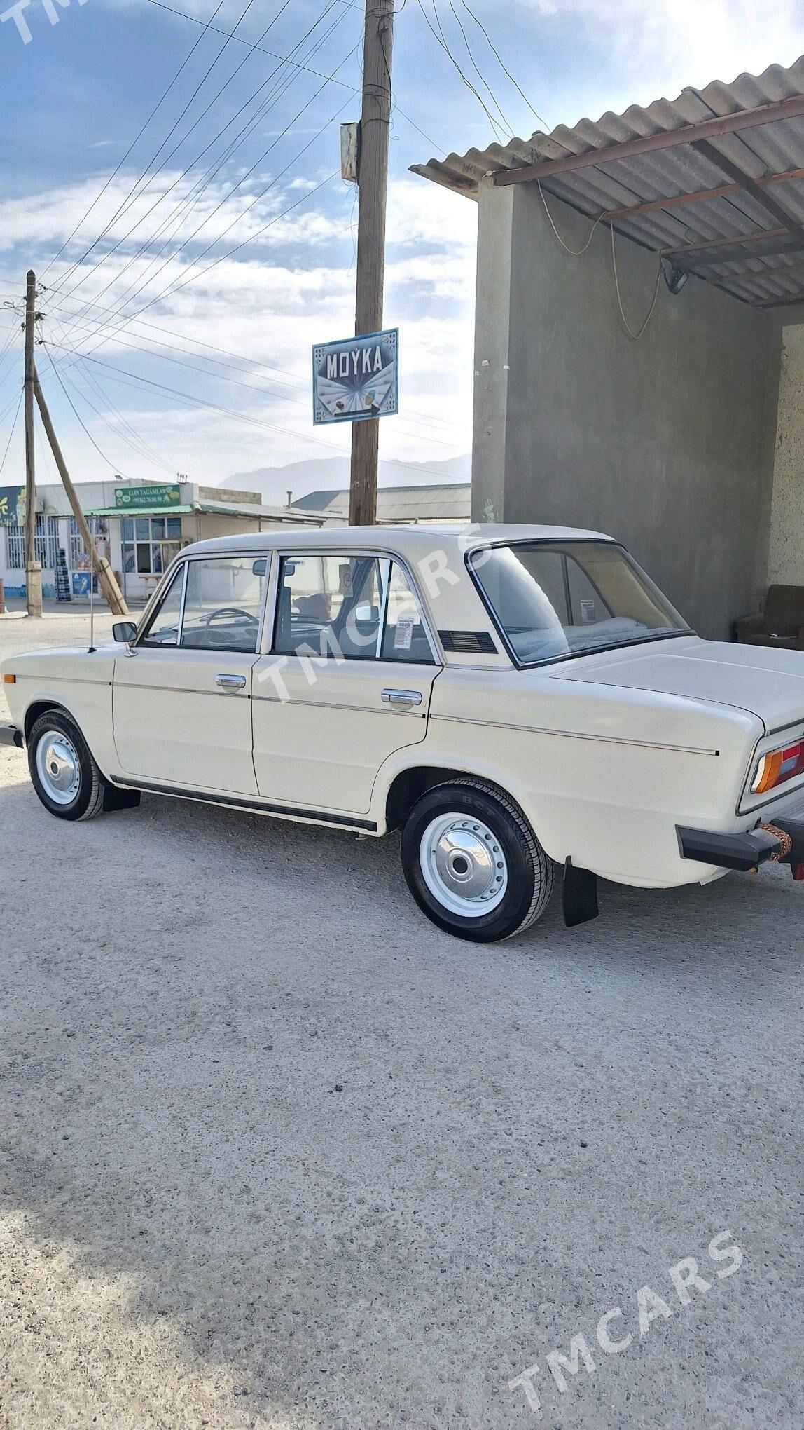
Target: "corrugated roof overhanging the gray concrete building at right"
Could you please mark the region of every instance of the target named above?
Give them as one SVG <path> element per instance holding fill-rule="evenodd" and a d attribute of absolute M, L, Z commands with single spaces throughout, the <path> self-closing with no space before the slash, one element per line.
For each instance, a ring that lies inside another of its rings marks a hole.
<path fill-rule="evenodd" d="M 790 69 L 773 64 L 764 74 L 740 74 L 731 84 L 713 82 L 703 90 L 685 89 L 678 99 L 660 99 L 647 109 L 633 104 L 624 114 L 603 114 L 597 123 L 581 119 L 573 129 L 560 124 L 550 134 L 537 132 L 531 139 L 513 139 L 508 144 L 451 153 L 414 164 L 413 172 L 457 193 L 477 197 L 483 176 L 560 160 L 568 154 L 600 150 L 600 163 L 584 169 L 550 174 L 540 183 L 550 194 L 597 217 L 613 209 L 631 207 L 658 199 L 674 199 L 728 184 L 731 176 L 691 143 L 655 149 L 650 153 L 617 157 L 611 146 L 648 134 L 667 134 L 687 124 L 804 94 L 804 57 Z M 804 167 L 804 114 L 763 123 L 711 140 L 731 164 L 748 179 L 765 179 Z M 607 150 L 610 150 L 607 153 Z M 780 235 L 778 217 L 763 206 L 767 196 L 784 209 L 800 233 Z M 748 303 L 784 303 L 804 296 L 804 177 L 763 186 L 757 196 L 741 187 L 737 193 L 701 199 L 678 207 L 651 213 L 620 216 L 613 220 L 618 233 L 654 250 L 684 250 L 717 239 L 751 237 L 745 246 L 727 243 L 723 249 L 674 253 L 673 262 L 725 287 Z M 757 233 L 768 239 L 755 239 Z"/>

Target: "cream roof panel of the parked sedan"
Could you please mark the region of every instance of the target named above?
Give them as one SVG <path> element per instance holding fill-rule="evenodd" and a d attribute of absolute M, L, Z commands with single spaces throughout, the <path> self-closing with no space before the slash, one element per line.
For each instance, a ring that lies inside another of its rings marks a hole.
<path fill-rule="evenodd" d="M 194 542 L 191 546 L 186 546 L 181 555 L 276 549 L 310 551 L 316 548 L 343 551 L 344 546 L 348 546 L 353 549 L 396 551 L 403 556 L 420 558 L 443 546 L 458 546 L 464 552 L 476 551 L 488 543 L 583 539 L 614 541 L 615 538 L 607 536 L 604 532 L 583 531 L 577 526 L 528 526 L 513 522 L 484 522 L 467 526 L 441 526 L 434 522 L 411 526 L 306 526 L 303 529 L 273 526 L 268 531 L 251 532 L 244 536 L 213 536 Z"/>

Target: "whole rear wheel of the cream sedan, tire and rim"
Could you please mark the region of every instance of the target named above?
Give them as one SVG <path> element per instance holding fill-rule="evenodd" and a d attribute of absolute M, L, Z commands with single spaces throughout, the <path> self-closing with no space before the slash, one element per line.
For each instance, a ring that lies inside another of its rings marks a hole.
<path fill-rule="evenodd" d="M 474 942 L 523 934 L 553 892 L 553 862 L 521 809 L 481 779 L 424 794 L 407 818 L 401 857 L 427 918 Z"/>

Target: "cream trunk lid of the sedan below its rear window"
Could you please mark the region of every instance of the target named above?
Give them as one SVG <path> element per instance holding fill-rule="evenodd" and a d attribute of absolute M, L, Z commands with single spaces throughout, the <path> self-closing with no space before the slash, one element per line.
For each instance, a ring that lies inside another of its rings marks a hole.
<path fill-rule="evenodd" d="M 804 722 L 803 651 L 674 636 L 580 656 L 551 675 L 733 705 L 757 715 L 765 732 Z"/>

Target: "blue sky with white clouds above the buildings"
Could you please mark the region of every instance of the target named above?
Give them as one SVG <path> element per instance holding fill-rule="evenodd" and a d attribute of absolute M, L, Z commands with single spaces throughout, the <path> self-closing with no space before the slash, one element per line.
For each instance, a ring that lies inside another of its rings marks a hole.
<path fill-rule="evenodd" d="M 74 476 L 216 482 L 344 450 L 346 430 L 313 430 L 310 347 L 354 322 L 356 193 L 336 170 L 338 124 L 358 114 L 361 3 L 3 4 L 0 302 L 19 305 L 33 266 L 37 360 Z M 476 209 L 407 167 L 496 137 L 424 11 L 498 133 L 520 136 L 541 127 L 534 112 L 573 124 L 804 50 L 804 0 L 400 6 L 386 322 L 401 395 L 381 452 L 417 463 L 471 445 Z M 0 310 L 0 353 L 11 485 L 19 306 Z"/>

